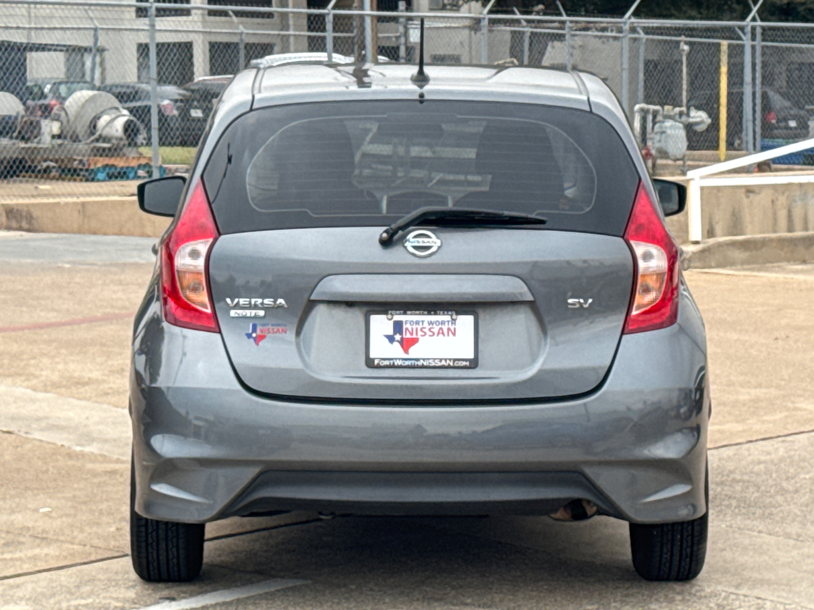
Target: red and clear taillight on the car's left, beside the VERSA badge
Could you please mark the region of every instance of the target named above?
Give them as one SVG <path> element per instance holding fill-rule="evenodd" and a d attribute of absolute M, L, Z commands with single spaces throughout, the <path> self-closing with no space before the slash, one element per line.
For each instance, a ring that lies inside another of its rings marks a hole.
<path fill-rule="evenodd" d="M 209 252 L 220 233 L 199 181 L 172 233 L 161 244 L 164 320 L 186 329 L 220 332 L 209 290 Z"/>

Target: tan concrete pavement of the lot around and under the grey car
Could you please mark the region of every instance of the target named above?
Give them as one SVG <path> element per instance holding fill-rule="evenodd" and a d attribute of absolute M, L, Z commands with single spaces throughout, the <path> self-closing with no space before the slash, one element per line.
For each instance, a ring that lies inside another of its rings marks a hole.
<path fill-rule="evenodd" d="M 151 585 L 127 556 L 123 412 L 128 316 L 151 274 L 151 240 L 99 247 L 82 236 L 23 235 L 4 247 L 8 239 L 0 237 L 0 610 L 173 599 L 258 609 L 814 608 L 814 265 L 686 273 L 707 323 L 717 447 L 710 551 L 694 582 L 641 581 L 627 526 L 606 517 L 294 513 L 209 525 L 203 576 Z M 281 579 L 306 582 L 275 588 Z M 248 594 L 225 600 L 225 590 Z"/>

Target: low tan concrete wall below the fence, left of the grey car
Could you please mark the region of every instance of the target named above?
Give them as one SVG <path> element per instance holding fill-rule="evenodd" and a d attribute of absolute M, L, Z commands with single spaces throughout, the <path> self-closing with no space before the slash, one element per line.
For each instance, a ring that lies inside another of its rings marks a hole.
<path fill-rule="evenodd" d="M 52 198 L 0 203 L 0 229 L 160 237 L 170 219 L 138 209 L 135 197 Z"/>

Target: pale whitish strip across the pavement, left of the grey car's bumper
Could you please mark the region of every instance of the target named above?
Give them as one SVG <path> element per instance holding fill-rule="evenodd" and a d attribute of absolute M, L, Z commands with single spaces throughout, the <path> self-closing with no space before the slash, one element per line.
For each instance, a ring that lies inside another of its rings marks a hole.
<path fill-rule="evenodd" d="M 0 430 L 130 459 L 130 416 L 109 404 L 0 385 Z"/>

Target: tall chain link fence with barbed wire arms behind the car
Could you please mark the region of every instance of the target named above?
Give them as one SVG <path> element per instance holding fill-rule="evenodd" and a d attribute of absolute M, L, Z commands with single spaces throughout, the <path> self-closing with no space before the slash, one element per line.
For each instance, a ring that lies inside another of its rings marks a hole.
<path fill-rule="evenodd" d="M 370 0 L 354 0 L 355 10 L 310 2 L 0 0 L 0 198 L 129 194 L 134 180 L 185 171 L 230 76 L 252 60 L 322 52 L 415 63 L 421 16 L 428 64 L 592 72 L 631 120 L 638 104 L 704 111 L 711 124 L 688 129 L 689 149 L 711 151 L 710 160 L 722 138 L 727 150 L 760 150 L 812 131 L 812 24 L 488 14 L 443 0 L 379 0 L 379 11 L 363 10 Z M 809 160 L 798 157 L 790 162 Z"/>

